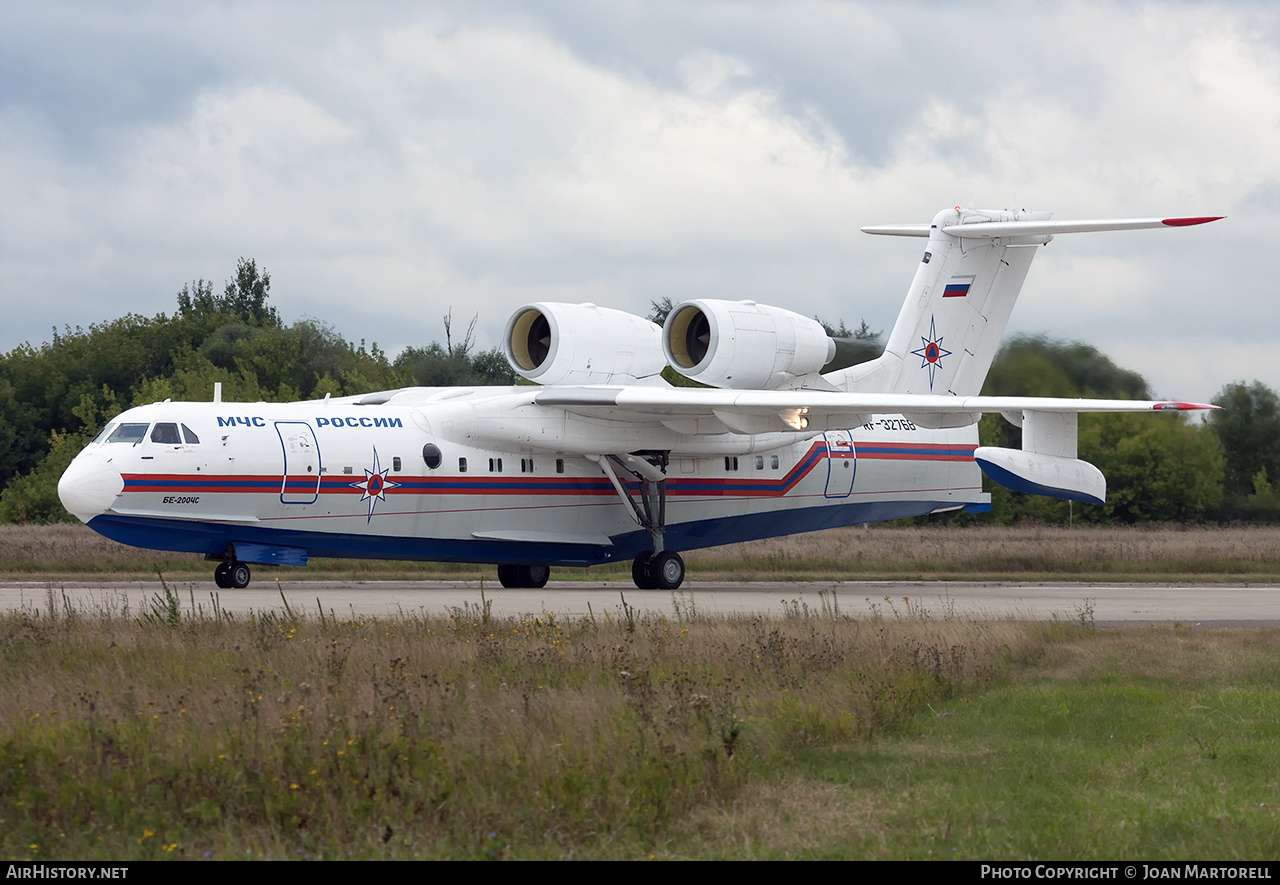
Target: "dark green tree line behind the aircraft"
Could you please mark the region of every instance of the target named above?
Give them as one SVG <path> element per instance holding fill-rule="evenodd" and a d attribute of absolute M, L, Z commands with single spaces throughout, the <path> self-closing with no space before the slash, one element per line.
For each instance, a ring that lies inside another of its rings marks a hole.
<path fill-rule="evenodd" d="M 285 325 L 270 301 L 271 278 L 242 259 L 220 293 L 197 279 L 177 295 L 177 310 L 129 314 L 86 329 L 54 329 L 52 339 L 0 355 L 0 523 L 70 520 L 58 479 L 106 423 L 133 406 L 165 398 L 202 401 L 221 382 L 228 401 L 351 396 L 398 387 L 513 384 L 497 348 L 476 351 L 475 320 L 454 341 L 408 347 L 389 359 L 378 345 L 348 342 L 330 325 Z M 654 302 L 654 316 L 671 307 Z M 878 353 L 865 321 L 850 330 L 824 324 L 845 364 Z M 675 379 L 677 383 L 678 379 Z M 1138 373 L 1088 345 L 1014 338 L 992 364 L 983 393 L 1147 400 Z M 1010 492 L 988 480 L 1001 523 L 1280 520 L 1280 397 L 1262 384 L 1228 384 L 1222 411 L 1203 423 L 1184 414 L 1082 415 L 1079 452 L 1107 476 L 1107 503 L 1080 505 Z M 983 418 L 987 446 L 1020 446 L 1020 432 Z"/>

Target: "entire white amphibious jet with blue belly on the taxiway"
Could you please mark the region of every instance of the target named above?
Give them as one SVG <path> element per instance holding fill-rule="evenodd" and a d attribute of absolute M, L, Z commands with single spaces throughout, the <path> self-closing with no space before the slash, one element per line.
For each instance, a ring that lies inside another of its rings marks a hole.
<path fill-rule="evenodd" d="M 538 386 L 292 403 L 215 389 L 119 415 L 58 492 L 108 538 L 219 562 L 219 587 L 246 587 L 246 564 L 347 556 L 494 562 L 504 587 L 630 560 L 636 585 L 675 589 L 681 549 L 989 510 L 982 471 L 1101 503 L 1106 480 L 1076 459 L 1079 412 L 1212 406 L 983 397 L 983 378 L 1038 246 L 1212 220 L 956 207 L 863 228 L 928 242 L 883 355 L 827 374 L 835 342 L 780 307 L 685 301 L 659 329 L 530 304 L 503 343 Z M 667 365 L 712 389 L 671 387 Z M 1021 448 L 979 446 L 983 412 L 1020 425 Z"/>

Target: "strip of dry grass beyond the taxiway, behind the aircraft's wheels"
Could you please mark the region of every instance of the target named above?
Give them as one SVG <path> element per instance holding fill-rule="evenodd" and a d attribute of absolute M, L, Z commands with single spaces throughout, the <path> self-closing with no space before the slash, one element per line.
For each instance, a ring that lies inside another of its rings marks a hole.
<path fill-rule="evenodd" d="M 694 580 L 1221 580 L 1280 581 L 1280 526 L 1005 528 L 873 525 L 731 544 L 685 556 Z M 0 576 L 207 579 L 189 553 L 124 547 L 83 525 L 0 526 Z M 265 570 L 259 570 L 264 576 Z M 492 566 L 312 560 L 314 578 L 494 578 Z M 556 569 L 553 579 L 630 575 L 630 564 Z"/>

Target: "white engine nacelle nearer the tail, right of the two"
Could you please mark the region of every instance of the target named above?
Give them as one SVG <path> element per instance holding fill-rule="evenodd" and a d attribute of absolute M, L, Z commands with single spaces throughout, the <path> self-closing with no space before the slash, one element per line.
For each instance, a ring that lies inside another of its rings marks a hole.
<path fill-rule="evenodd" d="M 733 389 L 799 387 L 836 355 L 822 325 L 754 301 L 682 301 L 662 329 L 667 362 L 685 378 Z"/>

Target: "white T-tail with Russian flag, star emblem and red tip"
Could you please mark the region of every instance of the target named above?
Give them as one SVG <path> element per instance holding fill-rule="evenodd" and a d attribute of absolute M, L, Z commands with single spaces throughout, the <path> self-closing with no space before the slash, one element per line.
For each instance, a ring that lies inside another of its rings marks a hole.
<path fill-rule="evenodd" d="M 1187 227 L 1217 220 L 1130 218 L 1051 222 L 1050 213 L 946 209 L 932 224 L 865 227 L 928 237 L 884 352 L 824 375 L 841 391 L 974 396 L 996 357 L 1036 248 L 1059 233 Z"/>

